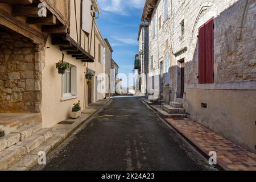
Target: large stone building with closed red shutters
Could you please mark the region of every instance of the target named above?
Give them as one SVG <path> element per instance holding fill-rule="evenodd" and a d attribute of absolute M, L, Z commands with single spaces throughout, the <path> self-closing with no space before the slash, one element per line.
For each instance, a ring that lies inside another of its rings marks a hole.
<path fill-rule="evenodd" d="M 163 61 L 164 101 L 183 102 L 191 119 L 251 151 L 256 144 L 255 3 L 147 0 L 142 15 L 150 23 L 150 72 L 162 77 L 164 55 L 170 54 L 168 63 Z"/>

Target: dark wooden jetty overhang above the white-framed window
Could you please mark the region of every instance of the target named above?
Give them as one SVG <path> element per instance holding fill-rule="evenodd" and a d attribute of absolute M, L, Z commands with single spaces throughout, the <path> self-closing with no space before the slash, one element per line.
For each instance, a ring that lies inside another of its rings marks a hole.
<path fill-rule="evenodd" d="M 76 57 L 77 60 L 88 63 L 94 62 L 94 57 L 86 52 L 68 34 L 52 34 L 52 44 L 59 46 L 63 51 L 67 51 L 68 55 Z"/>

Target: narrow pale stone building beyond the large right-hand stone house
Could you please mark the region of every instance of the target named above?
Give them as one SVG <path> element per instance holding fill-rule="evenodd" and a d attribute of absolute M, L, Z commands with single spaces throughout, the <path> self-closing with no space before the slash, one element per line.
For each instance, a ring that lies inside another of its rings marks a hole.
<path fill-rule="evenodd" d="M 147 75 L 148 75 L 148 24 L 139 25 L 138 32 L 139 55 L 141 60 L 141 94 L 147 95 Z"/>

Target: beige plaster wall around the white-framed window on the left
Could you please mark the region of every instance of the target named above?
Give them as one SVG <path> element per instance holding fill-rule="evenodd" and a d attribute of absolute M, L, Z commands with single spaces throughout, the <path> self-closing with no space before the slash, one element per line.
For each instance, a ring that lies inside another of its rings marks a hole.
<path fill-rule="evenodd" d="M 55 63 L 61 60 L 61 51 L 58 46 L 53 46 L 51 38 L 48 38 L 45 52 L 45 67 L 42 71 L 43 127 L 51 127 L 69 117 L 74 102 L 80 100 L 83 109 L 85 70 L 81 60 L 76 60 L 64 52 L 64 61 L 77 67 L 77 98 L 61 101 L 62 77 L 55 68 Z"/>

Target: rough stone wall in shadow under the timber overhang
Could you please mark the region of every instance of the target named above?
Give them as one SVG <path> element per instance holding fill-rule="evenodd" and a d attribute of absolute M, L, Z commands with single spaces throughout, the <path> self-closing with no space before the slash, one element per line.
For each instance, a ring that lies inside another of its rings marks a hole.
<path fill-rule="evenodd" d="M 0 29 L 0 113 L 40 112 L 38 49 L 24 36 Z"/>

